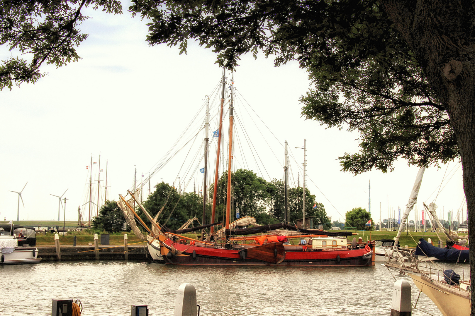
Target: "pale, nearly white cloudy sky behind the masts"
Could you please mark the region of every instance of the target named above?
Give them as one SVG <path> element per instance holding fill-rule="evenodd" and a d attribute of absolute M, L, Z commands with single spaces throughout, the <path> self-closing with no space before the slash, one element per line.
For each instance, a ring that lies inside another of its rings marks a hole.
<path fill-rule="evenodd" d="M 47 76 L 36 84 L 0 92 L 1 220 L 16 220 L 18 195 L 9 190 L 20 191 L 27 182 L 22 193 L 24 207 L 20 201 L 20 220 L 57 219 L 58 199 L 51 194 L 60 196 L 66 189 L 66 220 L 77 220 L 79 206 L 87 213 L 90 169 L 86 166 L 90 165 L 91 154 L 97 163 L 92 165 L 94 192 L 100 153 L 100 197 L 104 197 L 107 161 L 108 199 L 118 199 L 119 194 L 125 195 L 133 187 L 135 170 L 139 183 L 141 174 L 145 179 L 148 172 L 153 172 L 193 117 L 197 117 L 195 123 L 205 117 L 203 99 L 211 95 L 222 73 L 211 49 L 189 43 L 188 54 L 180 55 L 177 47 L 151 47 L 145 42 L 147 21 L 127 13 L 86 14 L 94 18 L 80 27 L 89 34 L 77 48 L 83 59 L 58 69 L 44 65 L 42 71 Z M 2 59 L 10 54 L 7 47 L 1 48 Z M 404 208 L 418 167 L 409 167 L 400 159 L 394 172 L 387 174 L 378 170 L 357 176 L 342 172 L 337 157 L 358 151 L 358 134 L 325 129 L 301 117 L 299 98 L 311 88 L 307 73 L 295 62 L 274 67 L 273 60 L 262 54 L 257 60 L 246 55 L 239 64 L 234 73 L 239 94 L 236 117 L 242 121 L 236 124 L 244 127 L 236 127 L 237 137 L 243 148 L 247 139 L 252 139 L 258 157 L 254 158 L 250 150 L 235 152 L 235 169 L 247 167 L 267 181 L 282 179 L 283 144 L 287 140 L 292 157 L 291 183 L 295 183 L 303 163 L 303 151 L 295 147 L 302 147 L 306 139 L 307 188 L 317 202 L 323 203 L 332 220 L 342 221 L 344 214 L 355 207 L 368 209 L 369 181 L 375 221 L 379 221 L 380 214 L 387 218 L 389 208 Z M 211 108 L 216 109 L 216 104 Z M 254 116 L 246 114 L 253 111 Z M 215 122 L 216 117 L 211 130 Z M 198 138 L 203 131 L 200 133 Z M 227 132 L 223 135 L 227 137 Z M 200 144 L 197 141 L 196 145 Z M 212 148 L 209 159 L 214 164 L 216 153 Z M 180 173 L 183 161 L 180 155 L 174 157 L 152 177 L 152 185 L 160 181 L 172 184 L 180 176 L 188 182 L 184 190 L 193 191 L 193 176 L 196 185 L 202 183 L 202 174 L 196 168 L 199 163 L 192 166 L 191 175 L 185 175 Z M 93 199 L 97 199 L 97 193 Z M 463 209 L 465 218 L 463 199 L 459 162 L 426 170 L 419 191 L 419 210 L 422 202 L 435 201 L 444 211 L 442 218 L 447 219 L 447 211 L 457 213 L 459 209 Z M 61 208 L 60 220 L 63 212 Z"/>

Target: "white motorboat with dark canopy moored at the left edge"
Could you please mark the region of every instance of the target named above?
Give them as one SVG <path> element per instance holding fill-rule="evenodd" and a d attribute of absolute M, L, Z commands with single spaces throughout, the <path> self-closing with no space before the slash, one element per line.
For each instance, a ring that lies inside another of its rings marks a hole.
<path fill-rule="evenodd" d="M 34 227 L 0 224 L 0 264 L 38 263 Z"/>

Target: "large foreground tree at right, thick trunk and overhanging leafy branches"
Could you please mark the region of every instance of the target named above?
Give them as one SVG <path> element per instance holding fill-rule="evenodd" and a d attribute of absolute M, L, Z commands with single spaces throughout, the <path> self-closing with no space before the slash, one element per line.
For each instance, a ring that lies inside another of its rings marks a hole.
<path fill-rule="evenodd" d="M 472 1 L 133 0 L 129 10 L 152 20 L 151 45 L 178 45 L 180 54 L 192 39 L 228 68 L 258 50 L 276 65 L 298 60 L 315 84 L 301 99 L 304 117 L 360 134 L 360 151 L 340 157 L 344 171 L 460 158 L 475 218 Z M 470 257 L 475 282 L 475 249 Z M 475 316 L 475 291 L 471 301 Z"/>

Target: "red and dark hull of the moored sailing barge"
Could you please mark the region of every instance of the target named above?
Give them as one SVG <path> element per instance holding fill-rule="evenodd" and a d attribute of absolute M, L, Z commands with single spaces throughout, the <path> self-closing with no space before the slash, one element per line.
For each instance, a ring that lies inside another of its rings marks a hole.
<path fill-rule="evenodd" d="M 251 258 L 243 260 L 238 249 L 180 244 L 168 238 L 163 245 L 167 249 L 173 246 L 174 249 L 182 252 L 179 255 L 163 256 L 166 263 L 179 265 L 370 266 L 372 264 L 372 252 L 368 248 L 330 251 L 286 250 L 284 261 L 275 264 Z"/>

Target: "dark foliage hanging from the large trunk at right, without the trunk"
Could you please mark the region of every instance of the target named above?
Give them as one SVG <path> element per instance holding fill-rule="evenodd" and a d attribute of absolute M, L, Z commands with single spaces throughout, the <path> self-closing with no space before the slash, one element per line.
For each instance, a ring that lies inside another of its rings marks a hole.
<path fill-rule="evenodd" d="M 196 40 L 228 68 L 258 50 L 276 65 L 296 59 L 315 85 L 301 99 L 304 117 L 360 134 L 360 152 L 339 157 L 344 171 L 392 171 L 401 156 L 417 165 L 459 157 L 445 107 L 377 1 L 132 2 L 129 11 L 152 19 L 151 45 L 181 54 Z"/>

